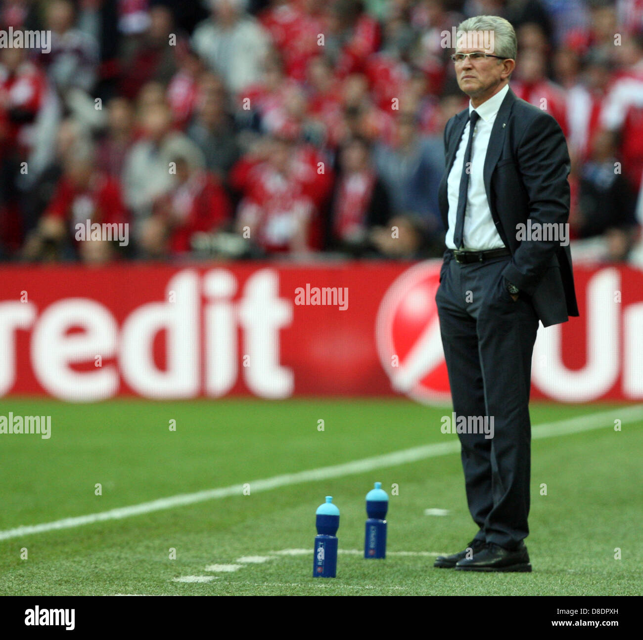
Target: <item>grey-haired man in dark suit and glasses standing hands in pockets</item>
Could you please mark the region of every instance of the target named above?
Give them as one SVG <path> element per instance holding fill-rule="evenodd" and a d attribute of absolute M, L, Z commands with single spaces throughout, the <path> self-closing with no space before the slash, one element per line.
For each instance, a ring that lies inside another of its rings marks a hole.
<path fill-rule="evenodd" d="M 566 224 L 570 159 L 556 120 L 509 88 L 517 53 L 511 24 L 476 16 L 461 32 L 493 39 L 456 46 L 452 56 L 471 100 L 444 130 L 439 204 L 448 231 L 435 301 L 453 410 L 467 425 L 457 431 L 478 532 L 435 566 L 531 571 L 524 538 L 532 352 L 538 321 L 578 316 Z M 491 438 L 473 420 L 484 416 L 493 418 Z"/>

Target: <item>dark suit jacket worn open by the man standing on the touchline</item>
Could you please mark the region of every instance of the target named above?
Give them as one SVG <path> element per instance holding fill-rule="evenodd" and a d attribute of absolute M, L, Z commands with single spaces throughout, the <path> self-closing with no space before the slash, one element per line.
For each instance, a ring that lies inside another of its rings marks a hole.
<path fill-rule="evenodd" d="M 445 229 L 449 226 L 447 179 L 468 120 L 467 105 L 444 128 L 446 170 L 438 199 Z M 484 186 L 493 222 L 511 251 L 511 262 L 503 275 L 531 296 L 543 326 L 579 315 L 572 254 L 569 245 L 563 247 L 555 240 L 518 240 L 518 224 L 527 224 L 527 218 L 531 218 L 532 224 L 541 225 L 567 222 L 569 172 L 567 143 L 556 120 L 516 98 L 510 87 L 491 130 L 483 169 Z M 447 251 L 446 259 L 448 256 Z"/>

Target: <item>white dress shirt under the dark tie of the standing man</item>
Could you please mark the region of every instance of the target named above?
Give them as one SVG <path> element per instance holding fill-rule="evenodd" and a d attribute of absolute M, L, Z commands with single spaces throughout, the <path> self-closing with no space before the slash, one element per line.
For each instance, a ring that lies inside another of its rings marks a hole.
<path fill-rule="evenodd" d="M 498 109 L 509 91 L 509 85 L 505 85 L 494 96 L 483 102 L 475 109 L 480 118 L 476 122 L 471 141 L 471 165 L 469 173 L 469 192 L 467 195 L 467 207 L 464 212 L 464 236 L 463 247 L 469 251 L 486 251 L 487 249 L 502 249 L 505 243 L 496 231 L 496 225 L 491 217 L 491 209 L 487 201 L 487 192 L 484 188 L 482 171 L 484 169 L 485 157 L 487 157 L 487 146 Z M 469 118 L 471 111 L 474 111 L 471 100 L 469 100 Z M 449 249 L 456 249 L 453 243 L 455 232 L 455 218 L 458 211 L 458 193 L 460 192 L 460 177 L 462 177 L 462 161 L 464 152 L 469 140 L 469 124 L 467 122 L 460 145 L 455 154 L 455 160 L 447 179 L 447 193 L 449 197 L 449 230 L 446 233 L 445 242 Z"/>

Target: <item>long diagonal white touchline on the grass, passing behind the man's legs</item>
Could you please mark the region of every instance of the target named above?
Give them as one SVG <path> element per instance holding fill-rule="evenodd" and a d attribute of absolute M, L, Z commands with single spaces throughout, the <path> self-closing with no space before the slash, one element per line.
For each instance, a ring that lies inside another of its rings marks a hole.
<path fill-rule="evenodd" d="M 608 425 L 611 427 L 614 416 L 617 416 L 622 424 L 636 422 L 643 418 L 643 405 L 616 407 L 615 409 L 611 409 L 611 411 L 603 411 L 602 413 L 575 416 L 575 418 L 557 420 L 557 422 L 546 422 L 532 428 L 532 438 L 538 440 L 540 438 L 552 438 L 570 433 L 601 429 L 601 427 L 608 427 Z M 319 467 L 294 474 L 284 474 L 282 476 L 255 480 L 251 481 L 250 485 L 253 492 L 256 493 L 258 491 L 268 491 L 291 484 L 354 476 L 355 474 L 363 474 L 367 471 L 373 471 L 383 467 L 395 467 L 395 465 L 417 462 L 419 460 L 425 460 L 426 458 L 436 458 L 437 456 L 446 456 L 447 454 L 457 452 L 460 452 L 460 442 L 458 440 L 449 440 L 448 442 L 421 445 L 419 447 L 394 451 L 383 456 L 354 460 L 341 465 Z M 175 507 L 185 506 L 186 504 L 196 504 L 197 502 L 226 498 L 231 495 L 243 495 L 243 490 L 243 484 L 233 484 L 232 486 L 224 486 L 219 489 L 206 489 L 194 493 L 179 493 L 179 495 L 159 498 L 158 500 L 152 500 L 150 502 L 141 502 L 141 504 L 132 504 L 131 506 L 119 507 L 109 511 L 100 511 L 100 513 L 89 513 L 87 515 L 54 520 L 53 522 L 43 522 L 42 524 L 30 524 L 19 526 L 15 529 L 6 529 L 5 531 L 0 531 L 0 540 L 10 540 L 11 538 L 20 538 L 34 533 L 44 533 L 45 531 L 56 531 L 57 529 L 71 529 L 84 524 L 104 522 L 105 520 L 131 518 L 135 515 L 173 509 Z"/>

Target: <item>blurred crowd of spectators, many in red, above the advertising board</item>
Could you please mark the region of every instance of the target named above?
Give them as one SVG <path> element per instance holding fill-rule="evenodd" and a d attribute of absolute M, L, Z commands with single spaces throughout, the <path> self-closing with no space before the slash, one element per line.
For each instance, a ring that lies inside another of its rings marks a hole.
<path fill-rule="evenodd" d="M 444 31 L 502 15 L 572 158 L 570 236 L 640 243 L 641 0 L 5 0 L 0 260 L 440 256 Z M 128 225 L 128 242 L 77 225 Z"/>

